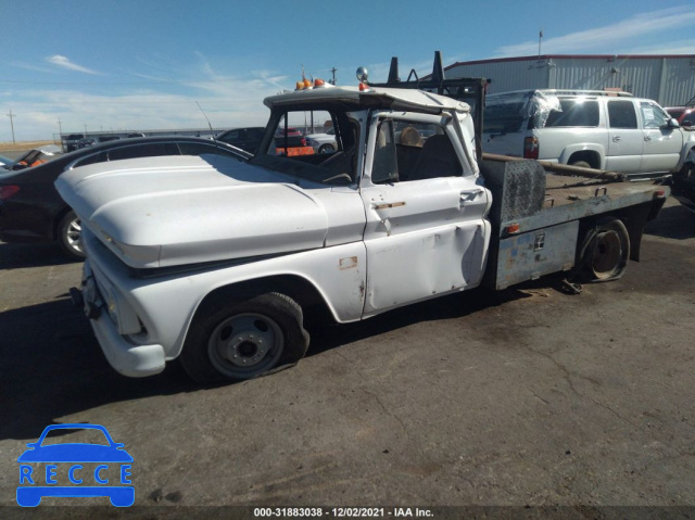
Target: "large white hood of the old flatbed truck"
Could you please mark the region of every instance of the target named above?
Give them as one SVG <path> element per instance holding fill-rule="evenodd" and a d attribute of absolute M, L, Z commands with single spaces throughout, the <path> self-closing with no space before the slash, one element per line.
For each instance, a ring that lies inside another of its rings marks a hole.
<path fill-rule="evenodd" d="M 219 155 L 83 166 L 55 187 L 136 268 L 321 248 L 328 230 L 323 204 L 290 177 Z"/>

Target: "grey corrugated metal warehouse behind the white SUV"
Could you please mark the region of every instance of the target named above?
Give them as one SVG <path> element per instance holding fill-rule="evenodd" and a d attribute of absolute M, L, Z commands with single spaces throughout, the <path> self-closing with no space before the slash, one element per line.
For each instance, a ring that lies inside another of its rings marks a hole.
<path fill-rule="evenodd" d="M 695 54 L 503 58 L 454 63 L 444 69 L 444 76 L 488 78 L 488 93 L 536 88 L 619 88 L 672 106 L 695 97 Z"/>

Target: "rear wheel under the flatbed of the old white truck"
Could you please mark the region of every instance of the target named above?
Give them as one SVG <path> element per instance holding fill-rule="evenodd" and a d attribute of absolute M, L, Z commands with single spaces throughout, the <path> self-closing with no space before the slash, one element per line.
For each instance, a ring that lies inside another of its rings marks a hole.
<path fill-rule="evenodd" d="M 612 217 L 598 220 L 584 238 L 580 258 L 585 281 L 622 278 L 630 258 L 630 236 L 624 224 Z"/>

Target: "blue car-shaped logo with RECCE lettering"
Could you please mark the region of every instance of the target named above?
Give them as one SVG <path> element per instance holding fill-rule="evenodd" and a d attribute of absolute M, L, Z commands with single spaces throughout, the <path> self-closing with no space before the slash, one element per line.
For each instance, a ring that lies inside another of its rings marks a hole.
<path fill-rule="evenodd" d="M 97 435 L 98 432 L 103 433 L 108 444 L 45 445 L 47 435 L 55 430 L 96 430 Z M 43 430 L 37 442 L 27 444 L 27 447 L 29 449 L 17 458 L 20 506 L 36 507 L 45 496 L 108 496 L 116 507 L 129 507 L 135 502 L 135 487 L 130 485 L 132 457 L 123 448 L 123 443 L 113 441 L 104 427 L 79 423 L 52 424 Z M 45 471 L 38 471 L 31 466 L 36 462 L 46 465 Z M 71 485 L 59 485 L 59 479 L 68 481 Z M 114 485 L 116 483 L 118 485 Z"/>

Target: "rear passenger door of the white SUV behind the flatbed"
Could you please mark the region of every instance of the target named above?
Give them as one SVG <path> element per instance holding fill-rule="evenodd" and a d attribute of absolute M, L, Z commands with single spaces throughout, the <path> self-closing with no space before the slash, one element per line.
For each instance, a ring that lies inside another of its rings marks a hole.
<path fill-rule="evenodd" d="M 640 172 L 644 136 L 637 125 L 632 100 L 610 100 L 608 105 L 608 150 L 606 167 L 614 172 Z"/>

